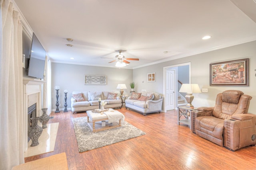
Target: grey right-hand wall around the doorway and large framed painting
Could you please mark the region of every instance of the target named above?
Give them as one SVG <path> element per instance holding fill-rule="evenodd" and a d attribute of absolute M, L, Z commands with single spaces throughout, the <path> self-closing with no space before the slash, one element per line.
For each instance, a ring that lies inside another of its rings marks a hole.
<path fill-rule="evenodd" d="M 210 86 L 210 63 L 246 58 L 249 58 L 249 86 Z M 134 69 L 133 81 L 136 91 L 147 89 L 163 94 L 163 68 L 187 62 L 191 62 L 191 83 L 197 83 L 200 88 L 208 88 L 208 93 L 194 94 L 192 103 L 195 107 L 214 106 L 218 93 L 225 90 L 241 90 L 244 94 L 252 96 L 249 112 L 256 114 L 256 41 Z M 147 73 L 150 72 L 156 72 L 156 82 L 147 82 Z M 144 80 L 144 83 L 141 80 Z"/>

